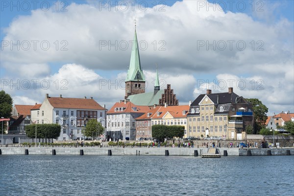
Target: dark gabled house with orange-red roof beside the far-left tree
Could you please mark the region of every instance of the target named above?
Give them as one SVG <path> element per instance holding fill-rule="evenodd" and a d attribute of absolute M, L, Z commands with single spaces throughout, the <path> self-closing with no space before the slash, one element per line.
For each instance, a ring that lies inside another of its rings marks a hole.
<path fill-rule="evenodd" d="M 25 134 L 25 126 L 31 123 L 30 110 L 33 107 L 34 105 L 14 105 L 8 134 Z"/>

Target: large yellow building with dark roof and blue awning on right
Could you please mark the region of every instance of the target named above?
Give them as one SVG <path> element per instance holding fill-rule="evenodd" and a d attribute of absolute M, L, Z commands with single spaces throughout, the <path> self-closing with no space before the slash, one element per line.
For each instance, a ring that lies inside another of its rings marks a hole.
<path fill-rule="evenodd" d="M 199 95 L 190 106 L 188 114 L 189 136 L 224 136 L 245 139 L 245 127 L 254 127 L 252 104 L 229 88 L 227 93 Z"/>

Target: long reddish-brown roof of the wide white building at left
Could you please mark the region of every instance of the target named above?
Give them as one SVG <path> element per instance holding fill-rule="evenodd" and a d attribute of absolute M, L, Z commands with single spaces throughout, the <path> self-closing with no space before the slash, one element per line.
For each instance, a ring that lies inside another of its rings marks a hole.
<path fill-rule="evenodd" d="M 94 99 L 89 98 L 48 98 L 49 103 L 54 108 L 73 108 L 73 109 L 92 109 L 106 110 L 99 105 Z"/>

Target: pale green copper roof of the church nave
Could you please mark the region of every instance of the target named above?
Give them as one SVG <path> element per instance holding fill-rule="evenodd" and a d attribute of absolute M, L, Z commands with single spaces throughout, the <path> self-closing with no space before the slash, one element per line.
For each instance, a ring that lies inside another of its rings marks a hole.
<path fill-rule="evenodd" d="M 164 94 L 164 90 L 159 90 L 155 95 L 153 91 L 149 93 L 130 95 L 128 96 L 128 99 L 136 105 L 153 106 L 154 104 L 159 104 L 159 99 L 162 94 Z"/>

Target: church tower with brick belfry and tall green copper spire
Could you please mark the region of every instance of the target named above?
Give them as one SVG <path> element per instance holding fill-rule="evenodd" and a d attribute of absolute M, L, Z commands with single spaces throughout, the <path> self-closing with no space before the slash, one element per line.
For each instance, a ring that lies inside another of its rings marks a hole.
<path fill-rule="evenodd" d="M 136 25 L 132 43 L 132 53 L 129 69 L 125 79 L 125 99 L 130 95 L 145 93 L 145 77 L 141 68 Z"/>

